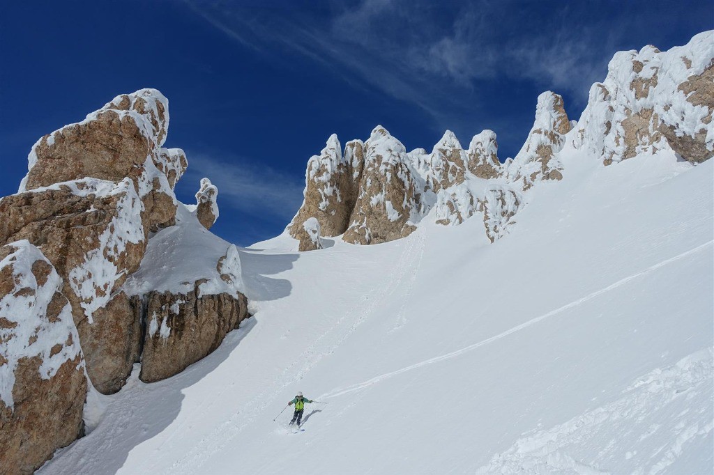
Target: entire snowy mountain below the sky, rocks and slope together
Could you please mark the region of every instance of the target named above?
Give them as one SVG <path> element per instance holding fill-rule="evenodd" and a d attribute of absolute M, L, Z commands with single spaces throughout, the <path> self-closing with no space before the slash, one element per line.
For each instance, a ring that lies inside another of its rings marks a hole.
<path fill-rule="evenodd" d="M 248 249 L 209 180 L 176 200 L 158 91 L 41 138 L 0 201 L 3 469 L 709 473 L 712 44 L 615 54 L 577 122 L 541 94 L 505 163 L 331 136 Z"/>

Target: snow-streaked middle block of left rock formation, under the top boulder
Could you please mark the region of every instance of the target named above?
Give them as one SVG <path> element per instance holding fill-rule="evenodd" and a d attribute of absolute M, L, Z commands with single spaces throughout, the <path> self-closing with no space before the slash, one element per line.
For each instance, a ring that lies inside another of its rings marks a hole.
<path fill-rule="evenodd" d="M 144 209 L 130 178 L 86 178 L 0 200 L 0 244 L 29 240 L 53 263 L 71 303 L 87 372 L 101 392 L 121 387 L 139 347 L 139 325 L 116 292 L 144 257 Z"/>

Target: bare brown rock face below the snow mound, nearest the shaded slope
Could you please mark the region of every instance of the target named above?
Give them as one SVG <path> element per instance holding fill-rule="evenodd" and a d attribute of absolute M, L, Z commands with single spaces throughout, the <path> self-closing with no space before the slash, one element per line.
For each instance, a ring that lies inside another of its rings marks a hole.
<path fill-rule="evenodd" d="M 174 376 L 218 348 L 248 317 L 247 300 L 227 293 L 151 292 L 146 297 L 146 338 L 139 378 L 154 382 Z"/>

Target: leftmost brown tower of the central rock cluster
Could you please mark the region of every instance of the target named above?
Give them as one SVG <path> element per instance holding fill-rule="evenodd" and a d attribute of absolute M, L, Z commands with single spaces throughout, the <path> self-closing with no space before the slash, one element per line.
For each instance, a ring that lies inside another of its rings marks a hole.
<path fill-rule="evenodd" d="M 343 155 L 336 134 L 330 136 L 320 155 L 308 161 L 303 204 L 288 225 L 293 237 L 302 240 L 303 223 L 310 218 L 318 220 L 326 236 L 345 232 L 357 199 L 363 163 L 361 141 L 349 142 Z"/>

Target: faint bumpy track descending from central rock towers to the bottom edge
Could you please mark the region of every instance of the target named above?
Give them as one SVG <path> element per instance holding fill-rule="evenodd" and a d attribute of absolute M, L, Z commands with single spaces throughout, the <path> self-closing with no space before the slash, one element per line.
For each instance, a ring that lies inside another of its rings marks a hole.
<path fill-rule="evenodd" d="M 385 285 L 380 287 L 380 290 L 373 292 L 372 297 L 368 299 L 368 303 L 363 307 L 363 310 L 359 311 L 359 307 L 357 307 L 356 312 L 346 312 L 342 315 L 342 317 L 333 323 L 329 330 L 323 332 L 300 357 L 296 358 L 295 362 L 285 369 L 279 377 L 273 379 L 273 383 L 268 385 L 265 391 L 253 397 L 253 399 L 246 404 L 243 404 L 238 412 L 226 419 L 223 424 L 216 427 L 210 434 L 203 436 L 201 441 L 198 441 L 198 444 L 188 451 L 188 454 L 174 461 L 174 464 L 166 473 L 196 473 L 203 464 L 211 460 L 213 455 L 222 451 L 231 443 L 234 437 L 258 419 L 262 412 L 269 407 L 273 407 L 273 401 L 278 397 L 278 394 L 281 394 L 283 389 L 303 379 L 321 359 L 333 353 L 376 309 L 382 307 L 383 302 L 388 300 L 388 297 L 401 287 L 401 283 L 405 280 L 409 271 L 412 270 L 410 263 L 415 262 L 417 254 L 420 255 L 419 262 L 421 263 L 424 238 L 421 236 L 413 236 L 411 239 L 406 238 L 405 241 L 404 250 L 398 262 L 396 262 L 392 271 L 383 281 Z M 414 270 L 412 274 L 415 275 L 416 270 Z M 413 283 L 414 280 L 412 279 L 411 285 L 413 285 Z M 328 342 L 323 344 L 323 340 L 325 340 L 328 335 L 340 330 L 346 323 L 346 320 L 351 316 L 353 317 L 355 313 L 358 314 L 357 317 L 354 318 L 352 325 L 348 327 L 341 337 L 336 339 L 333 344 L 329 344 Z M 323 349 L 320 348 L 321 344 L 324 346 Z M 251 415 L 243 417 L 246 414 Z M 169 440 L 167 439 L 167 441 Z M 216 444 L 216 441 L 221 441 L 221 443 Z"/>

